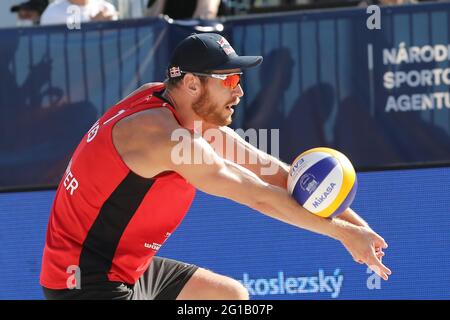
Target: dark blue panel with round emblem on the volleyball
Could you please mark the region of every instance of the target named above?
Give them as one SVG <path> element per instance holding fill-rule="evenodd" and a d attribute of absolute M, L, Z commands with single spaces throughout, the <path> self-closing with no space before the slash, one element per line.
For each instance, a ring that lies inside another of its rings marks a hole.
<path fill-rule="evenodd" d="M 303 205 L 338 163 L 334 157 L 326 157 L 306 170 L 292 192 L 297 202 Z"/>

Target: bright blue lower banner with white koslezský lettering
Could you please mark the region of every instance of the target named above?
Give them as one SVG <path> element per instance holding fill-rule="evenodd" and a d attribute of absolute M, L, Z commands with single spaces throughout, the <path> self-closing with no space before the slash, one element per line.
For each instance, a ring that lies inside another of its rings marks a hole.
<path fill-rule="evenodd" d="M 353 208 L 389 244 L 385 282 L 335 240 L 199 192 L 158 253 L 231 276 L 252 299 L 450 299 L 450 168 L 358 174 Z M 418 187 L 419 186 L 419 187 Z M 54 191 L 0 193 L 0 299 L 41 299 Z"/>

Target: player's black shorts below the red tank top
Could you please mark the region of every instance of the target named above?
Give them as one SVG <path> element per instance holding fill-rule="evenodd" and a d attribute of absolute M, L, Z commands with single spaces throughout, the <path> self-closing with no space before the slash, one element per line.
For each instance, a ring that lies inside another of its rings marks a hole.
<path fill-rule="evenodd" d="M 81 289 L 42 289 L 48 300 L 175 300 L 197 269 L 195 265 L 153 257 L 134 285 L 108 281 L 85 284 Z"/>

